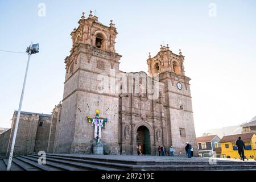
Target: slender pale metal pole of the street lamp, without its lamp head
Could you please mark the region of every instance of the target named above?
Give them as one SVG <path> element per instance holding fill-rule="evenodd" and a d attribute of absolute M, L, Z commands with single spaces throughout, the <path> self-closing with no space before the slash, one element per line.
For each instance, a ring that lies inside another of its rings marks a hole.
<path fill-rule="evenodd" d="M 32 42 L 31 42 L 31 45 L 30 45 L 30 49 L 31 48 L 32 48 Z M 19 110 L 18 110 L 18 115 L 17 115 L 15 127 L 14 127 L 13 141 L 11 142 L 11 151 L 10 151 L 10 155 L 9 155 L 9 160 L 8 160 L 8 165 L 7 165 L 6 171 L 10 171 L 11 161 L 13 160 L 13 151 L 14 151 L 14 145 L 15 145 L 15 139 L 16 139 L 16 134 L 17 134 L 17 130 L 18 130 L 18 125 L 19 125 L 19 117 L 20 117 L 20 110 L 21 110 L 21 107 L 22 107 L 24 89 L 25 89 L 26 80 L 27 80 L 28 65 L 30 64 L 30 56 L 31 56 L 31 50 L 29 50 L 29 52 L 28 52 L 27 68 L 26 68 L 26 73 L 25 73 L 24 82 L 23 82 L 22 94 L 20 96 Z"/>

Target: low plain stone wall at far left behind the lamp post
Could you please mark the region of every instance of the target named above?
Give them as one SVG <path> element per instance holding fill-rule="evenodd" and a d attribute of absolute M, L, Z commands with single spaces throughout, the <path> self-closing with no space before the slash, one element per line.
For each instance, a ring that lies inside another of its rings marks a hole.
<path fill-rule="evenodd" d="M 11 129 L 4 133 L 5 137 L 0 138 L 0 142 L 7 144 L 7 155 L 10 153 L 11 142 L 13 141 L 14 127 L 16 123 L 16 115 L 18 111 L 13 114 Z M 39 128 L 39 121 L 42 121 L 45 127 Z M 51 122 L 51 115 L 21 112 L 18 130 L 16 134 L 14 155 L 30 154 L 35 151 L 35 147 L 44 151 L 47 150 L 49 123 Z M 8 138 L 7 135 L 10 134 Z M 8 138 L 8 139 L 7 139 Z M 46 147 L 45 147 L 46 146 Z M 3 150 L 5 150 L 4 147 Z M 38 151 L 38 150 L 36 150 Z"/>

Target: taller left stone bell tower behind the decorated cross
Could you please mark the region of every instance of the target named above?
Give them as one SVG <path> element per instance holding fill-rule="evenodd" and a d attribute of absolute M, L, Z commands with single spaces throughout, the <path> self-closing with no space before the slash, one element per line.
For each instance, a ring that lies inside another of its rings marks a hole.
<path fill-rule="evenodd" d="M 94 117 L 98 109 L 101 117 L 109 119 L 101 139 L 109 154 L 118 154 L 118 94 L 110 86 L 119 72 L 118 33 L 112 20 L 105 26 L 92 11 L 88 18 L 82 13 L 78 23 L 71 32 L 72 48 L 64 62 L 63 104 L 54 152 L 90 154 L 94 128 L 86 115 Z"/>

